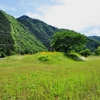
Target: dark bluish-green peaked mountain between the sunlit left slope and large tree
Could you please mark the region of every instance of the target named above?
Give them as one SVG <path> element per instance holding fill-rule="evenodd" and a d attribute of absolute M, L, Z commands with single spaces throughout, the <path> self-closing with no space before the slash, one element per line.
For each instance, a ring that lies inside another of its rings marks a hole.
<path fill-rule="evenodd" d="M 17 19 L 24 24 L 34 36 L 50 49 L 51 36 L 59 29 L 44 23 L 38 19 L 32 19 L 26 15 Z"/>

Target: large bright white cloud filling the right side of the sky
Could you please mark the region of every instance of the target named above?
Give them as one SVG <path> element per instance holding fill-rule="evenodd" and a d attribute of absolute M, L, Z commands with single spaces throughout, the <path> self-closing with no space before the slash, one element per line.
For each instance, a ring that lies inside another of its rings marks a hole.
<path fill-rule="evenodd" d="M 99 0 L 56 0 L 52 6 L 41 6 L 37 10 L 42 15 L 27 13 L 59 28 L 81 32 L 86 27 L 100 25 Z M 99 31 L 94 33 L 99 34 Z M 91 32 L 92 35 L 93 32 Z"/>

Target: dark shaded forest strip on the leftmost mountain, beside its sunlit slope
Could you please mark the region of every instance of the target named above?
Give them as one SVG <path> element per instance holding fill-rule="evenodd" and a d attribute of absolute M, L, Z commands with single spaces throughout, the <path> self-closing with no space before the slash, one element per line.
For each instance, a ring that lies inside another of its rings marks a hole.
<path fill-rule="evenodd" d="M 2 56 L 10 55 L 14 50 L 14 40 L 11 35 L 10 22 L 5 13 L 0 11 L 0 52 Z"/>

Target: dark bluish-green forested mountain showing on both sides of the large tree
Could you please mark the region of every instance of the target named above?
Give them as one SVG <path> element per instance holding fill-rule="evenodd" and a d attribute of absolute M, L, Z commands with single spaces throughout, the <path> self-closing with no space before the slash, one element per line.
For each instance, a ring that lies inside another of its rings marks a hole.
<path fill-rule="evenodd" d="M 32 32 L 35 37 L 40 40 L 48 49 L 50 49 L 51 45 L 51 37 L 54 33 L 57 31 L 61 31 L 62 29 L 58 29 L 56 27 L 50 26 L 43 21 L 40 21 L 38 19 L 32 19 L 26 15 L 21 16 L 17 19 L 19 22 L 21 22 L 23 25 L 25 25 L 30 32 Z M 66 29 L 65 29 L 66 30 Z M 93 36 L 88 37 L 88 42 L 86 43 L 86 48 L 88 48 L 90 51 L 94 51 L 95 49 L 100 46 L 100 37 Z"/>

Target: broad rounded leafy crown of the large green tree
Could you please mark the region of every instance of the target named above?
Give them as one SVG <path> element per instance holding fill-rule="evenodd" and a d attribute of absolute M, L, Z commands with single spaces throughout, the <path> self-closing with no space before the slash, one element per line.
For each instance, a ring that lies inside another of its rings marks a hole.
<path fill-rule="evenodd" d="M 53 35 L 51 46 L 55 51 L 79 52 L 85 46 L 87 37 L 73 30 L 61 30 Z"/>

